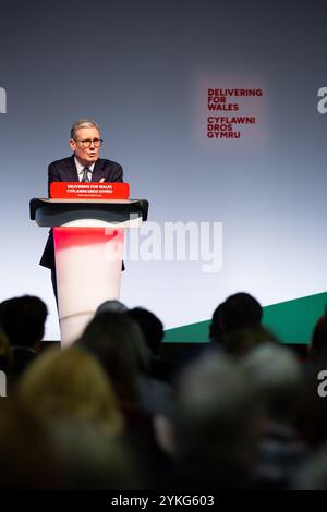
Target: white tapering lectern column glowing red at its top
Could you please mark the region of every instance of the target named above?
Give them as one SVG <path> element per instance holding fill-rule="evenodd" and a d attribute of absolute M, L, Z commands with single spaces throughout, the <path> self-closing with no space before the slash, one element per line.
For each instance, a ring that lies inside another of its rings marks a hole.
<path fill-rule="evenodd" d="M 61 342 L 68 345 L 102 302 L 119 298 L 124 230 L 55 228 L 53 236 Z"/>

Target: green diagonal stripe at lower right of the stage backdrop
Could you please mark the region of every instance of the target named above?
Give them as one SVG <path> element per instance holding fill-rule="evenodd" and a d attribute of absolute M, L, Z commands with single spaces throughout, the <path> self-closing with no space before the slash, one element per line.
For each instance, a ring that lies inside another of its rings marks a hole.
<path fill-rule="evenodd" d="M 271 329 L 282 343 L 308 343 L 317 319 L 327 305 L 327 292 L 294 298 L 264 307 L 263 324 Z M 208 341 L 210 320 L 168 329 L 165 342 L 204 343 Z"/>

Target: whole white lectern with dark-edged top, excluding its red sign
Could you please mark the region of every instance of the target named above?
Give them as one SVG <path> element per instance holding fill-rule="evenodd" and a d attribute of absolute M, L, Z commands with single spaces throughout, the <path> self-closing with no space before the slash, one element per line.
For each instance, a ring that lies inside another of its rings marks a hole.
<path fill-rule="evenodd" d="M 125 229 L 147 219 L 145 199 L 38 199 L 31 219 L 53 229 L 61 344 L 83 332 L 97 307 L 119 298 Z"/>

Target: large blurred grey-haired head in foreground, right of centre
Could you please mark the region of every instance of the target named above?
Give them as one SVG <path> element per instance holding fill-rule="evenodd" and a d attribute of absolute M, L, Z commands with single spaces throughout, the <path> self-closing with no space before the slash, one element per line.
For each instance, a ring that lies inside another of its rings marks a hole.
<path fill-rule="evenodd" d="M 178 385 L 175 450 L 184 463 L 249 467 L 258 411 L 246 374 L 225 355 L 205 355 Z"/>

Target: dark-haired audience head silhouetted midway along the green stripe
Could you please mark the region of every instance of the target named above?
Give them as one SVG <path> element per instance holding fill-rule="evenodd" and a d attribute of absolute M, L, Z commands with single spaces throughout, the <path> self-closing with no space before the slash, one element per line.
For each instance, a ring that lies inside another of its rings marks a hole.
<path fill-rule="evenodd" d="M 261 325 L 263 308 L 249 293 L 235 293 L 215 309 L 209 336 L 220 342 L 222 337 L 237 329 Z"/>

